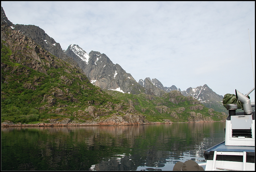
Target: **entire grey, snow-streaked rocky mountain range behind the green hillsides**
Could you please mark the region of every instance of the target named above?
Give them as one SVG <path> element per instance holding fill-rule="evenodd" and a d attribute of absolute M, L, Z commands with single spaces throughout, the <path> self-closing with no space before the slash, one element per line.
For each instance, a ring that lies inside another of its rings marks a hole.
<path fill-rule="evenodd" d="M 2 10 L 3 11 L 3 10 Z M 54 56 L 79 66 L 92 84 L 106 90 L 116 90 L 122 93 L 141 94 L 145 93 L 153 96 L 162 96 L 172 90 L 178 90 L 184 96 L 192 96 L 208 108 L 216 111 L 227 112 L 222 105 L 222 95 L 216 94 L 206 84 L 196 88 L 188 88 L 186 91 L 177 89 L 176 86 L 166 87 L 156 78 L 140 79 L 136 82 L 130 73 L 113 62 L 104 53 L 91 51 L 87 53 L 76 44 L 70 44 L 66 50 L 62 50 L 59 43 L 49 37 L 43 29 L 34 25 L 23 25 L 11 23 L 4 13 L 2 19 L 14 30 L 22 32 L 25 36 L 32 38 L 45 50 Z"/>

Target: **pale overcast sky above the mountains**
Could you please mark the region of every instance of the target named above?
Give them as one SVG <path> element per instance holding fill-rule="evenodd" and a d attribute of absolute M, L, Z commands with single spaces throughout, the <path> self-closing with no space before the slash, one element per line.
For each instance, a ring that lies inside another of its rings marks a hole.
<path fill-rule="evenodd" d="M 1 1 L 14 24 L 36 25 L 60 43 L 106 54 L 138 82 L 182 91 L 255 86 L 255 2 Z M 250 41 L 249 33 L 250 32 Z M 250 48 L 251 46 L 251 48 Z M 255 101 L 255 90 L 249 95 Z"/>

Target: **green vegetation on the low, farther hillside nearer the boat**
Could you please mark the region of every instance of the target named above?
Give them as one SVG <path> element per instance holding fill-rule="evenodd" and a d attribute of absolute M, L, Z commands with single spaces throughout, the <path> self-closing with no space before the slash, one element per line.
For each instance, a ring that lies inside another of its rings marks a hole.
<path fill-rule="evenodd" d="M 144 116 L 146 116 L 146 119 L 152 122 L 165 122 L 164 119 L 169 119 L 172 122 L 187 122 L 188 116 L 190 115 L 191 111 L 194 111 L 196 113 L 201 113 L 202 115 L 206 117 L 211 117 L 214 121 L 220 121 L 223 120 L 224 115 L 222 113 L 214 111 L 214 115 L 210 115 L 208 113 L 209 108 L 203 106 L 202 110 L 190 110 L 191 106 L 195 106 L 192 103 L 192 101 L 186 100 L 186 97 L 183 95 L 176 97 L 176 99 L 181 99 L 181 102 L 175 104 L 169 101 L 169 93 L 165 93 L 162 97 L 157 96 L 149 96 L 147 94 L 128 94 L 128 93 L 121 93 L 118 91 L 113 90 L 106 90 L 109 94 L 116 97 L 117 99 L 120 99 L 123 102 L 126 102 L 129 104 L 129 101 L 131 100 L 133 102 L 133 105 L 135 109 L 142 113 Z M 148 99 L 152 98 L 152 100 Z M 182 101 L 184 99 L 185 101 Z M 179 111 L 179 108 L 184 107 L 184 111 Z M 161 110 L 162 109 L 162 110 Z M 171 116 L 171 112 L 180 112 L 176 113 L 178 118 L 175 118 Z"/>

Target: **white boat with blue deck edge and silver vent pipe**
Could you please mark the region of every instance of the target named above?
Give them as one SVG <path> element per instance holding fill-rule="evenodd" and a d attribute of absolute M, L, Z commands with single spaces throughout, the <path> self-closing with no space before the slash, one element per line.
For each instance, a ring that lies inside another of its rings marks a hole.
<path fill-rule="evenodd" d="M 243 104 L 244 112 L 236 112 L 237 104 L 226 104 L 225 141 L 204 151 L 206 171 L 239 170 L 255 171 L 255 102 L 247 94 L 236 92 L 236 99 Z M 233 94 L 234 95 L 234 94 Z"/>

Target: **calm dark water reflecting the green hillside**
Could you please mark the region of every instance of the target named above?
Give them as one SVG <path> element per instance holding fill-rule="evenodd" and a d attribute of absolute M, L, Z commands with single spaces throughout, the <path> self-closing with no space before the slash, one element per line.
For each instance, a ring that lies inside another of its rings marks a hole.
<path fill-rule="evenodd" d="M 1 128 L 1 170 L 173 170 L 205 162 L 225 122 Z M 151 169 L 150 169 L 151 168 Z"/>

